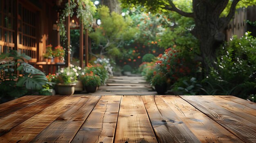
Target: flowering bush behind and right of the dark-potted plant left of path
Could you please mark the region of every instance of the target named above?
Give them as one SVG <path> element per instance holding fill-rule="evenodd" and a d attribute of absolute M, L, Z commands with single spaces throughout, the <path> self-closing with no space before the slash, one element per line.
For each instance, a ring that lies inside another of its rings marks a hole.
<path fill-rule="evenodd" d="M 108 79 L 108 71 L 101 64 L 95 64 L 94 66 L 88 65 L 85 67 L 85 73 L 93 72 L 95 75 L 98 75 L 101 80 L 101 84 L 104 84 Z"/>

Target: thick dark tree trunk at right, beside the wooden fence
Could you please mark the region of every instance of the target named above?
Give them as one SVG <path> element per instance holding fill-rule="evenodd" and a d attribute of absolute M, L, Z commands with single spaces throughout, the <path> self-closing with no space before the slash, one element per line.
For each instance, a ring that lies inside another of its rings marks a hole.
<path fill-rule="evenodd" d="M 223 26 L 220 26 L 220 13 L 226 7 L 228 0 L 193 0 L 195 19 L 195 36 L 200 41 L 202 64 L 206 74 L 214 67 L 216 49 L 225 40 Z"/>

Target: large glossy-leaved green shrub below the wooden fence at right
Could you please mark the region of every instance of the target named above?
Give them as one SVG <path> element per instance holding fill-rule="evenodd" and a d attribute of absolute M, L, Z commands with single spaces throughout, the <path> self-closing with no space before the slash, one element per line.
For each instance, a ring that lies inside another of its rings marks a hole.
<path fill-rule="evenodd" d="M 204 79 L 207 91 L 216 95 L 234 95 L 246 99 L 256 89 L 256 38 L 245 33 L 234 36 L 220 51 L 209 76 Z"/>

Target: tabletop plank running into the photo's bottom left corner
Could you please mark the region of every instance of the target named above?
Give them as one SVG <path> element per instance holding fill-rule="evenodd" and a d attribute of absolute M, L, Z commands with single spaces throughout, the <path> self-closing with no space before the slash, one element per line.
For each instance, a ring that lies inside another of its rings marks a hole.
<path fill-rule="evenodd" d="M 39 134 L 79 99 L 81 99 L 81 96 L 64 97 L 33 117 L 12 128 L 6 134 L 0 136 L 0 141 L 3 143 L 31 141 L 37 134 Z"/>

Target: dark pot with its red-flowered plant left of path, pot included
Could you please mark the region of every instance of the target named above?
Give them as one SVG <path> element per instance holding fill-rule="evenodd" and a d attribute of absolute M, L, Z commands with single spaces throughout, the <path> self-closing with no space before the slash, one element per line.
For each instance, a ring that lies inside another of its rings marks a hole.
<path fill-rule="evenodd" d="M 85 86 L 87 92 L 95 92 L 99 85 L 101 85 L 101 78 L 98 75 L 95 75 L 92 71 L 90 73 L 85 73 L 80 77 L 80 80 Z"/>

